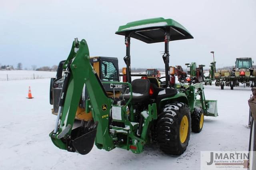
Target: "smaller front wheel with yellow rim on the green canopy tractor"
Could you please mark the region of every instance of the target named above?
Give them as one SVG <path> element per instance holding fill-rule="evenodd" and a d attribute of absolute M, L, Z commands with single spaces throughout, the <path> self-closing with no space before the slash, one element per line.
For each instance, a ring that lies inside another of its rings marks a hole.
<path fill-rule="evenodd" d="M 192 132 L 201 132 L 204 126 L 204 113 L 201 108 L 195 108 L 191 114 L 191 130 Z"/>

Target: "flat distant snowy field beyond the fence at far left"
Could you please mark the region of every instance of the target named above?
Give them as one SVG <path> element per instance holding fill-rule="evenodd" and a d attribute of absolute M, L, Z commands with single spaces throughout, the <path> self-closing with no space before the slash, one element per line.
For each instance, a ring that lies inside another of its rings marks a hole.
<path fill-rule="evenodd" d="M 55 77 L 55 71 L 31 71 L 31 70 L 0 70 L 1 80 L 46 79 Z"/>

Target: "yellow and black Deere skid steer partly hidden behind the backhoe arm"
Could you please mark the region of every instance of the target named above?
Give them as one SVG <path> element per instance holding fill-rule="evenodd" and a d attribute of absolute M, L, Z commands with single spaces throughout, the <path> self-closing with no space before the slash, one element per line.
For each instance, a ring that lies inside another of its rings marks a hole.
<path fill-rule="evenodd" d="M 66 60 L 60 61 L 55 78 L 51 78 L 50 81 L 50 104 L 53 105 L 52 114 L 57 115 L 59 109 L 60 94 L 63 85 L 64 69 L 63 65 Z M 118 71 L 118 59 L 116 57 L 90 57 L 90 63 L 94 68 L 101 81 L 119 82 L 120 75 Z M 113 96 L 113 86 L 115 87 L 116 95 L 120 95 L 122 85 L 116 85 L 113 83 L 104 84 L 108 96 Z M 88 93 L 86 86 L 84 86 L 81 99 L 76 111 L 76 119 L 89 121 L 92 120 L 92 114 L 86 114 L 86 99 L 88 99 Z"/>

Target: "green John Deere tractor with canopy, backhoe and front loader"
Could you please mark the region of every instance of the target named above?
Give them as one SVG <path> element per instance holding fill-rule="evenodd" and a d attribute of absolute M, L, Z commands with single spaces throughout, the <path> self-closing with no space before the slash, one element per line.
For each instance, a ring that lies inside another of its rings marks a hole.
<path fill-rule="evenodd" d="M 169 42 L 193 38 L 172 19 L 153 18 L 129 22 L 116 32 L 125 37 L 127 82 L 102 82 L 90 64 L 85 40 L 75 41 L 64 63 L 64 76 L 58 116 L 50 138 L 58 148 L 87 154 L 94 143 L 107 151 L 114 148 L 141 153 L 149 143 L 158 143 L 166 154 L 180 155 L 190 139 L 190 131 L 200 132 L 204 116 L 217 116 L 217 101 L 204 97 L 202 83 L 172 88 L 169 75 Z M 143 77 L 132 81 L 130 71 L 130 39 L 146 43 L 164 42 L 166 79 Z M 112 84 L 113 97 L 108 96 L 104 84 Z M 85 112 L 92 113 L 92 121 L 81 121 L 73 128 L 76 110 L 83 87 L 89 99 Z M 122 88 L 116 95 L 115 88 Z"/>

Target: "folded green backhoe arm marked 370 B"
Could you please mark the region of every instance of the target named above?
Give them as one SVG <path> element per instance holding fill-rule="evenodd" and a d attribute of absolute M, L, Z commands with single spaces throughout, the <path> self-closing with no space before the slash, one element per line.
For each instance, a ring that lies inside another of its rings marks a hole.
<path fill-rule="evenodd" d="M 59 120 L 57 120 L 57 131 L 50 133 L 52 142 L 61 149 L 79 153 L 85 152 L 86 150 L 78 146 L 79 142 L 84 142 L 84 140 L 88 138 L 93 139 L 94 142 L 95 135 L 93 137 L 92 133 L 88 134 L 88 132 L 90 132 L 90 127 L 72 129 L 82 89 L 84 85 L 86 85 L 91 101 L 90 108 L 96 125 L 95 128 L 97 128 L 97 132 L 95 129 L 96 145 L 98 148 L 104 148 L 105 150 L 113 149 L 114 143 L 109 135 L 108 129 L 108 117 L 112 99 L 107 97 L 100 79 L 90 64 L 89 49 L 85 40 L 78 42 L 76 39 L 73 42 L 68 59 L 64 63 L 64 69 L 70 70 L 70 76 L 66 91 L 64 91 L 64 105 L 63 109 L 61 109 L 62 112 L 60 111 L 60 123 Z M 89 137 L 88 135 L 86 136 L 86 134 L 88 134 Z M 87 142 L 83 145 L 86 144 Z"/>

